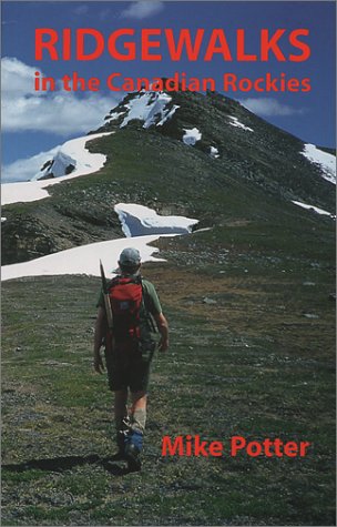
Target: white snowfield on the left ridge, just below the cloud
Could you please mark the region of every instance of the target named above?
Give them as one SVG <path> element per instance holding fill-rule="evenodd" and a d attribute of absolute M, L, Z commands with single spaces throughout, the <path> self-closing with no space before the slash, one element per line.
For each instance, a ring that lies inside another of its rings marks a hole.
<path fill-rule="evenodd" d="M 85 135 L 83 138 L 72 139 L 67 141 L 64 144 L 57 149 L 52 149 L 49 152 L 45 152 L 44 162 L 50 161 L 59 155 L 58 161 L 58 173 L 61 174 L 61 160 L 64 160 L 64 170 L 67 168 L 69 159 L 75 162 L 75 168 L 68 175 L 60 175 L 58 178 L 49 180 L 37 181 L 35 178 L 39 174 L 34 174 L 34 181 L 24 181 L 17 183 L 3 183 L 1 185 L 1 205 L 9 205 L 10 203 L 19 202 L 31 202 L 37 200 L 43 200 L 43 197 L 49 197 L 49 193 L 45 190 L 47 186 L 55 185 L 62 181 L 69 181 L 73 178 L 79 178 L 80 175 L 91 174 L 98 172 L 104 165 L 106 156 L 103 154 L 93 154 L 86 150 L 85 145 L 89 141 L 92 141 L 104 135 L 110 135 L 110 132 L 95 133 L 92 135 Z M 29 160 L 27 160 L 29 162 Z M 39 158 L 41 162 L 41 158 Z M 37 170 L 37 169 L 35 169 Z M 40 175 L 43 175 L 45 172 L 40 171 Z"/>

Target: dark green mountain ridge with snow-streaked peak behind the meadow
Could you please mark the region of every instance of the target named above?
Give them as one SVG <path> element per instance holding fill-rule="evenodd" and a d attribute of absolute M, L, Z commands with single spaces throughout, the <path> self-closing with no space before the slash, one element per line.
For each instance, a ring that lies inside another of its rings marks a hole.
<path fill-rule="evenodd" d="M 140 109 L 145 121 L 134 118 Z M 121 126 L 125 115 L 130 119 Z M 299 215 L 309 223 L 330 221 L 303 215 L 292 203 L 335 210 L 331 183 L 303 155 L 305 143 L 229 98 L 131 93 L 106 118 L 88 134 L 90 139 L 92 133 L 113 132 L 86 145 L 89 152 L 106 158 L 99 172 L 64 179 L 50 186 L 50 197 L 41 202 L 3 207 L 3 264 L 121 237 L 113 211 L 118 202 L 197 217 L 201 227 L 272 221 L 273 207 L 280 222 L 284 215 Z M 185 144 L 184 134 L 193 130 L 201 138 Z"/>

